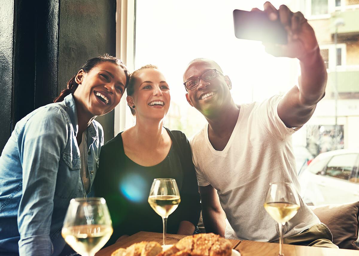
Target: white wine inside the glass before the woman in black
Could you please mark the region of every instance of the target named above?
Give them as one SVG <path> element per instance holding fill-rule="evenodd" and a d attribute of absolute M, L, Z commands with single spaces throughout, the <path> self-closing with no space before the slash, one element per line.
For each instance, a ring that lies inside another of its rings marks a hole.
<path fill-rule="evenodd" d="M 152 209 L 162 218 L 168 218 L 168 215 L 177 209 L 180 202 L 179 195 L 151 195 L 148 198 Z"/>

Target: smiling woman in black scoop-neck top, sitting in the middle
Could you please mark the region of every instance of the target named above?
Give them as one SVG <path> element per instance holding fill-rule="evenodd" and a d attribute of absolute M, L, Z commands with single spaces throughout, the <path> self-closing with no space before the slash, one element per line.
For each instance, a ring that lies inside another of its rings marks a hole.
<path fill-rule="evenodd" d="M 139 231 L 162 232 L 162 219 L 147 202 L 154 178 L 176 179 L 180 191 L 167 232 L 193 234 L 201 211 L 198 185 L 185 134 L 163 127 L 171 101 L 164 75 L 156 66 L 141 67 L 132 73 L 127 95 L 136 124 L 102 147 L 94 185 L 111 214 L 109 243 Z"/>

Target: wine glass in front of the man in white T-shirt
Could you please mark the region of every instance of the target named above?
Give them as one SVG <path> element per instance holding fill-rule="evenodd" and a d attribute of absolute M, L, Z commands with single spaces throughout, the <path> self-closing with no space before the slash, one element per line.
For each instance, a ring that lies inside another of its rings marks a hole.
<path fill-rule="evenodd" d="M 279 226 L 279 256 L 282 253 L 283 225 L 297 214 L 300 202 L 297 190 L 292 183 L 276 182 L 269 184 L 264 208 Z"/>

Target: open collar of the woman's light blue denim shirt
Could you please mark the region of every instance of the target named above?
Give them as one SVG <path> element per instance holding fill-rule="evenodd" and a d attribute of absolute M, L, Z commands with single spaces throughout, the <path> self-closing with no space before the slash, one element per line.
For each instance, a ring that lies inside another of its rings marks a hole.
<path fill-rule="evenodd" d="M 77 136 L 77 133 L 79 132 L 79 124 L 77 119 L 77 110 L 74 96 L 70 93 L 64 98 L 64 102 L 65 110 L 67 114 L 69 114 L 70 122 L 73 124 L 74 127 L 75 136 Z M 94 121 L 90 123 L 86 131 L 88 137 L 88 146 L 90 146 L 98 138 L 97 125 Z"/>

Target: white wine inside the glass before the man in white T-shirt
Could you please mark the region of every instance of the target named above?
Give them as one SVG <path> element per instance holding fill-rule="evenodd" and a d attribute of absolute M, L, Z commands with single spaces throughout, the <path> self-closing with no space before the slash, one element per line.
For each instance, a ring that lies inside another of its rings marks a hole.
<path fill-rule="evenodd" d="M 265 203 L 264 208 L 279 223 L 285 223 L 297 214 L 300 205 L 287 202 Z"/>

